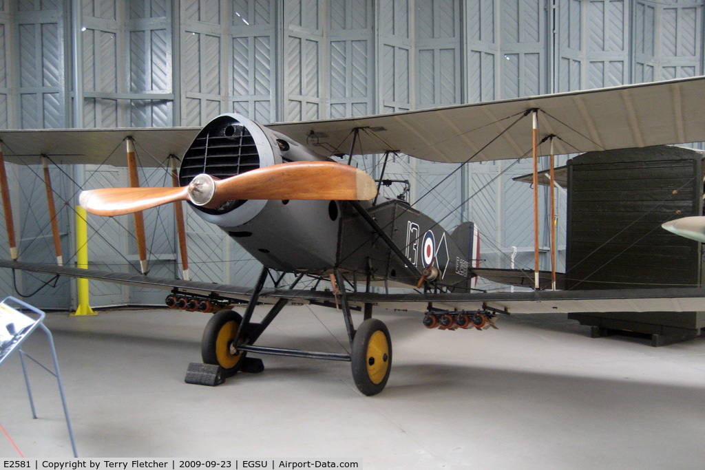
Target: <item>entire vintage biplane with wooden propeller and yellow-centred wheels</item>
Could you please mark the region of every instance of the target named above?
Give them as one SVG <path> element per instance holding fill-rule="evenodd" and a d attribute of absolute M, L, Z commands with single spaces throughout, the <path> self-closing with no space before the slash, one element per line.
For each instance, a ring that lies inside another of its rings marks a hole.
<path fill-rule="evenodd" d="M 126 140 L 132 187 L 83 192 L 80 204 L 88 212 L 135 214 L 139 232 L 141 211 L 176 203 L 178 216 L 181 202 L 187 202 L 204 223 L 244 247 L 262 271 L 254 287 L 189 280 L 185 264 L 183 279 L 152 278 L 145 274 L 142 248 L 142 273 L 61 266 L 59 253 L 56 266 L 25 263 L 16 259 L 9 234 L 13 259 L 0 260 L 0 266 L 171 290 L 169 307 L 214 311 L 204 329 L 202 359 L 226 376 L 262 370 L 262 361 L 247 354 L 349 361 L 360 392 L 375 395 L 388 381 L 392 344 L 384 323 L 373 318 L 374 307 L 422 311 L 425 326 L 446 330 L 488 328 L 504 313 L 700 310 L 702 287 L 556 290 L 555 267 L 539 271 L 536 162 L 550 155 L 552 167 L 553 155 L 702 142 L 704 110 L 705 78 L 687 78 L 361 118 L 261 124 L 228 113 L 200 129 L 0 131 L 14 152 L 4 159 L 22 164 L 51 155 L 62 163 L 125 166 L 124 159 L 108 155 Z M 173 187 L 138 187 L 133 140 L 151 154 L 180 157 Z M 351 165 L 357 154 L 381 154 L 385 162 L 406 154 L 463 166 L 520 158 L 527 143 L 534 159 L 533 271 L 480 267 L 472 222 L 446 232 L 403 197 L 381 196 L 384 168 L 374 180 Z M 4 173 L 0 183 L 6 187 L 3 178 Z M 183 246 L 183 226 L 179 235 Z M 305 276 L 321 287 L 298 289 Z M 531 290 L 481 292 L 473 287 L 477 276 Z M 273 286 L 266 287 L 268 282 Z M 379 285 L 381 291 L 375 289 Z M 390 286 L 406 290 L 392 293 Z M 342 311 L 350 353 L 259 345 L 264 330 L 294 299 Z M 231 309 L 233 302 L 242 302 L 242 315 Z M 272 307 L 255 322 L 258 304 Z M 355 309 L 363 312 L 357 326 Z"/>

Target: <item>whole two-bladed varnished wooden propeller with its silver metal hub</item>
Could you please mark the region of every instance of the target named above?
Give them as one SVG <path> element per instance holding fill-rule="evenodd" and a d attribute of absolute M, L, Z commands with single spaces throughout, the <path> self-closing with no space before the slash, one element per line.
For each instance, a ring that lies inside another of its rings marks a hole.
<path fill-rule="evenodd" d="M 332 161 L 294 161 L 265 166 L 224 180 L 205 173 L 182 187 L 114 187 L 84 191 L 80 204 L 91 214 L 121 216 L 169 202 L 190 201 L 215 209 L 238 199 L 331 199 L 364 201 L 377 194 L 371 176 Z"/>

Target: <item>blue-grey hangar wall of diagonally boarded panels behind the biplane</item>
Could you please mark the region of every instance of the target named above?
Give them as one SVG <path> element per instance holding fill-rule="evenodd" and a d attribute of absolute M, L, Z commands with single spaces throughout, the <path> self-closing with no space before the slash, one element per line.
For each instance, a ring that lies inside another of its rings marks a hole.
<path fill-rule="evenodd" d="M 0 128 L 202 125 L 227 111 L 262 122 L 360 116 L 701 75 L 703 12 L 691 0 L 0 0 Z M 371 171 L 376 163 L 360 162 Z M 399 156 L 388 171 L 410 178 L 411 201 L 446 228 L 477 221 L 487 266 L 508 267 L 513 247 L 516 265 L 532 266 L 528 187 L 511 180 L 529 163 L 474 163 L 444 180 L 453 168 Z M 40 169 L 11 173 L 20 259 L 51 262 Z M 116 168 L 59 165 L 51 175 L 71 204 L 78 183 L 127 184 Z M 159 185 L 166 176 L 140 178 Z M 73 212 L 60 206 L 64 251 L 73 253 Z M 257 263 L 186 213 L 192 278 L 252 283 Z M 171 211 L 146 216 L 152 274 L 174 276 Z M 130 218 L 91 216 L 90 225 L 92 263 L 133 269 Z M 0 273 L 0 285 L 13 292 L 11 273 Z M 39 285 L 18 274 L 23 294 Z M 92 286 L 94 306 L 163 297 Z M 71 290 L 59 280 L 32 302 L 67 307 Z"/>

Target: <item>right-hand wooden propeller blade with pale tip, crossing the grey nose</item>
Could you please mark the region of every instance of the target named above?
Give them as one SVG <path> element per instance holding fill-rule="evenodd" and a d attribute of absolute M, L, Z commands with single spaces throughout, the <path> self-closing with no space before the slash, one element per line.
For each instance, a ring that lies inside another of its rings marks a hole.
<path fill-rule="evenodd" d="M 212 208 L 237 199 L 364 201 L 377 194 L 370 175 L 333 161 L 293 161 L 265 166 L 216 180 L 215 186 L 213 198 L 203 205 Z"/>

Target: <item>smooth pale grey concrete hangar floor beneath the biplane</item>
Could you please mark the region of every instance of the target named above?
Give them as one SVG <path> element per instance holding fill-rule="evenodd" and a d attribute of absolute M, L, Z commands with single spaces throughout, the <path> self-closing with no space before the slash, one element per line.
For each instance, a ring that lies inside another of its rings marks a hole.
<path fill-rule="evenodd" d="M 262 312 L 259 312 L 262 314 Z M 49 314 L 80 457 L 362 459 L 364 469 L 705 466 L 705 338 L 591 339 L 563 315 L 502 317 L 499 330 L 426 330 L 376 312 L 393 338 L 384 392 L 364 397 L 341 362 L 264 357 L 209 388 L 183 382 L 209 314 Z M 357 318 L 356 318 L 357 322 Z M 332 333 L 331 333 L 332 332 Z M 260 344 L 342 352 L 330 309 L 288 307 Z M 49 362 L 41 333 L 25 350 Z M 26 457 L 71 457 L 56 381 L 0 368 L 0 424 Z M 0 434 L 0 457 L 16 457 Z"/>

